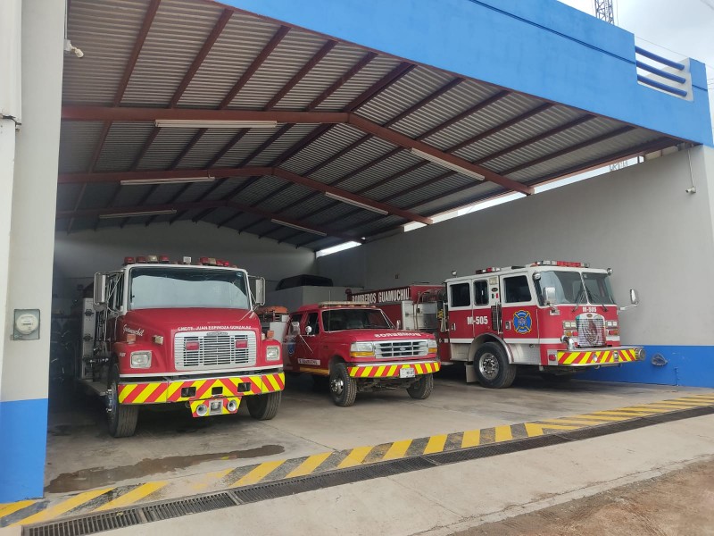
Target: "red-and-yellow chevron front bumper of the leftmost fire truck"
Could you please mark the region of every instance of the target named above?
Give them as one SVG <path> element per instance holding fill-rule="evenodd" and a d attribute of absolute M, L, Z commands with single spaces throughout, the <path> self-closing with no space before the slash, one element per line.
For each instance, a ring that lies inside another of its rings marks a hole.
<path fill-rule="evenodd" d="M 203 378 L 201 380 L 178 381 L 120 381 L 120 404 L 168 404 L 188 402 L 192 410 L 193 402 L 210 398 L 230 398 L 240 402 L 240 398 L 262 395 L 285 389 L 285 374 L 248 374 Z M 228 400 L 225 401 L 228 405 Z M 237 411 L 237 408 L 236 408 Z M 235 412 L 228 412 L 235 413 Z"/>

